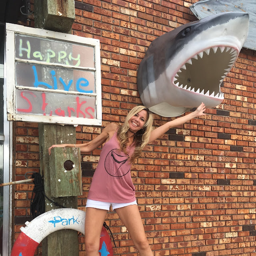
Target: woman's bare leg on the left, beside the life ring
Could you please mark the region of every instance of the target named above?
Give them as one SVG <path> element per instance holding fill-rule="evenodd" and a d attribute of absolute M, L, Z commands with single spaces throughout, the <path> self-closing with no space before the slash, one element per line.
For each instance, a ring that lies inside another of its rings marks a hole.
<path fill-rule="evenodd" d="M 100 233 L 107 210 L 87 207 L 84 224 L 84 242 L 86 256 L 100 256 Z"/>

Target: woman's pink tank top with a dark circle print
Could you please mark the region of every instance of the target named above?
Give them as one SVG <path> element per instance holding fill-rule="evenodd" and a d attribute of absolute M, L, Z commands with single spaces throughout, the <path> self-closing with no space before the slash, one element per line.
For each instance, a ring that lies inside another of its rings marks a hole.
<path fill-rule="evenodd" d="M 128 154 L 124 153 L 119 149 L 116 135 L 115 132 L 102 147 L 88 193 L 90 200 L 110 203 L 130 203 L 136 200 L 130 172 L 130 156 L 134 152 L 135 145 L 128 146 L 126 148 Z"/>

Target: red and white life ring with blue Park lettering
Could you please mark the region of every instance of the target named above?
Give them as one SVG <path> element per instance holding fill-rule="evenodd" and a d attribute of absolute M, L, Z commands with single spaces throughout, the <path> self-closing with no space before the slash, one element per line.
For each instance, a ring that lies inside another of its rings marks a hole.
<path fill-rule="evenodd" d="M 10 256 L 34 256 L 40 242 L 49 234 L 63 229 L 72 229 L 84 234 L 85 212 L 72 208 L 62 208 L 45 212 L 26 227 L 21 227 Z M 100 234 L 100 256 L 113 256 L 110 236 L 102 227 Z"/>

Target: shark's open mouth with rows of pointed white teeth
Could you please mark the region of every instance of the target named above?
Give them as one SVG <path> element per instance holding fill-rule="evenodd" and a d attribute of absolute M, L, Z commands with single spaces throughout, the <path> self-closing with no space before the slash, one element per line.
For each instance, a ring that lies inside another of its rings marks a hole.
<path fill-rule="evenodd" d="M 195 93 L 223 98 L 220 84 L 234 65 L 237 56 L 238 51 L 231 47 L 208 48 L 190 58 L 178 70 L 174 76 L 174 84 Z"/>

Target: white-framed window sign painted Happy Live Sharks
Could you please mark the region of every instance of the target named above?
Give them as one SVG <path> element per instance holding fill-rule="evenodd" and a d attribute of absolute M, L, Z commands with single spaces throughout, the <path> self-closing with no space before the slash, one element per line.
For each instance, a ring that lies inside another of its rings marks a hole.
<path fill-rule="evenodd" d="M 99 40 L 6 24 L 8 120 L 101 125 Z"/>

